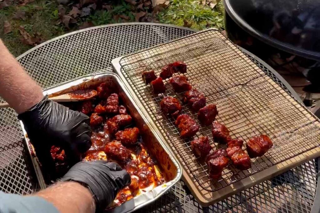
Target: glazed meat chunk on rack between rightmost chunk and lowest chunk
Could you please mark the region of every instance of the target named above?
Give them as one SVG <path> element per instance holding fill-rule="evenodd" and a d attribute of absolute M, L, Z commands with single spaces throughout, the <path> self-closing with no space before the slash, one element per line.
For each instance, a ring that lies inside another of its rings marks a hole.
<path fill-rule="evenodd" d="M 227 154 L 237 169 L 246 170 L 251 168 L 250 157 L 239 146 L 228 147 Z"/>

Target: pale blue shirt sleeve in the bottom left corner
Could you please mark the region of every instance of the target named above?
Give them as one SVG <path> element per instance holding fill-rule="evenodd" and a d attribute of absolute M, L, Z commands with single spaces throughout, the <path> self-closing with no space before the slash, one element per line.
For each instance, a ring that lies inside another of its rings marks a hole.
<path fill-rule="evenodd" d="M 37 196 L 5 194 L 0 191 L 0 213 L 59 213 L 52 203 Z"/>

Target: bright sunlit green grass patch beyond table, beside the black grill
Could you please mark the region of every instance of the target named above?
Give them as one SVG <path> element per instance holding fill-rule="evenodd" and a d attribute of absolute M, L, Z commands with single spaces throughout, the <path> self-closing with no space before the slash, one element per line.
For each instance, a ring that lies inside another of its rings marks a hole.
<path fill-rule="evenodd" d="M 197 30 L 209 27 L 223 29 L 223 12 L 222 1 L 212 10 L 199 0 L 172 0 L 167 8 L 158 13 L 157 18 L 161 23 L 178 26 L 184 26 L 186 21 L 191 28 Z"/>

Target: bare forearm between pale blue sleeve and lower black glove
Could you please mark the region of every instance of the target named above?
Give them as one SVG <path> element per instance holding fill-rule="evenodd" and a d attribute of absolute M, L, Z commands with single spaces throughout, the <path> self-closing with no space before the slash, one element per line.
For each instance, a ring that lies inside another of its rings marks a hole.
<path fill-rule="evenodd" d="M 76 182 L 60 182 L 34 195 L 51 202 L 61 213 L 95 212 L 91 192 Z"/>

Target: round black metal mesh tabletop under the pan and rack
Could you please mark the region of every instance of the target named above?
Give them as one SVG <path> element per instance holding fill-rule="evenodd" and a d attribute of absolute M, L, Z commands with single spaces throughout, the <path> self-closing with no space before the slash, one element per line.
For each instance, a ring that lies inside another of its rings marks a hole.
<path fill-rule="evenodd" d="M 48 88 L 87 74 L 111 71 L 111 60 L 116 57 L 192 33 L 187 28 L 146 23 L 94 27 L 45 42 L 18 60 L 32 78 Z M 286 83 L 279 84 L 285 87 Z M 0 109 L 0 189 L 4 192 L 28 194 L 38 189 L 21 138 L 15 112 Z M 309 212 L 316 195 L 317 178 L 318 163 L 311 160 L 210 207 L 201 207 L 181 180 L 139 211 Z"/>

